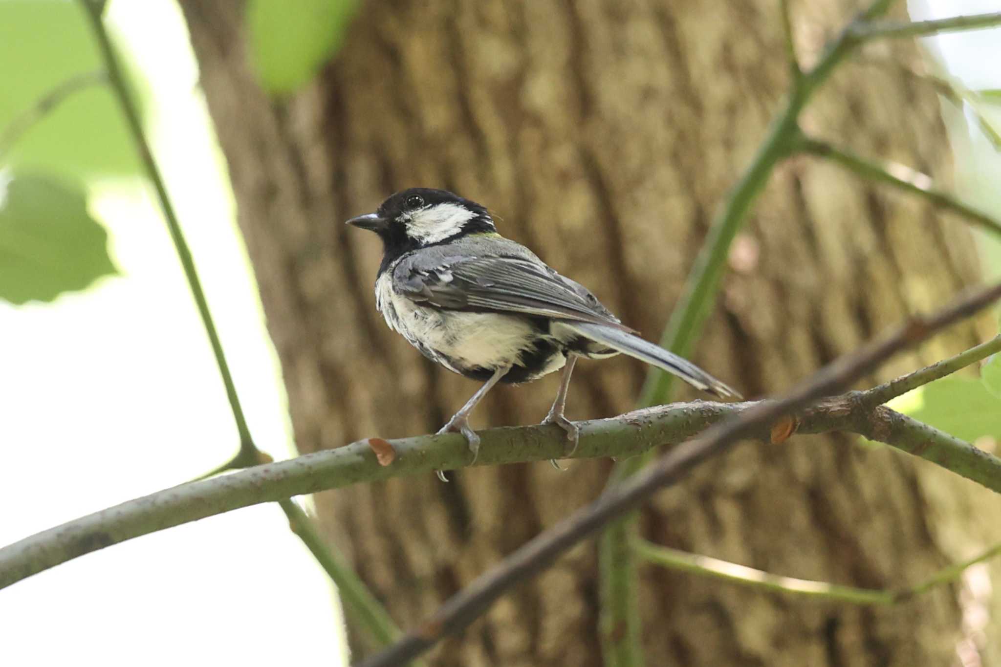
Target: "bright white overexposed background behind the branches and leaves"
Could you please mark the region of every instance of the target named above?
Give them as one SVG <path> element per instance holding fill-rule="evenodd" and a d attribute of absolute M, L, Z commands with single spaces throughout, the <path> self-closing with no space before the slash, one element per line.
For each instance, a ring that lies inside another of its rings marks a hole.
<path fill-rule="evenodd" d="M 211 0 L 210 0 L 211 1 Z M 911 0 L 915 18 L 929 3 Z M 933 17 L 1001 9 L 930 3 Z M 169 0 L 111 3 L 153 87 L 154 148 L 194 250 L 257 443 L 290 455 L 285 397 L 221 157 Z M 968 86 L 1001 88 L 1001 31 L 939 40 Z M 996 176 L 975 133 L 960 180 Z M 972 166 L 967 166 L 972 165 Z M 992 179 L 994 183 L 998 180 Z M 991 190 L 994 190 L 992 188 Z M 52 305 L 0 304 L 0 543 L 194 477 L 236 450 L 218 373 L 158 209 L 134 182 L 93 208 L 120 277 Z M 982 205 L 987 205 L 984 202 Z M 996 199 L 991 203 L 997 203 Z M 274 505 L 239 510 L 85 556 L 0 592 L 5 664 L 337 664 L 331 586 Z"/>

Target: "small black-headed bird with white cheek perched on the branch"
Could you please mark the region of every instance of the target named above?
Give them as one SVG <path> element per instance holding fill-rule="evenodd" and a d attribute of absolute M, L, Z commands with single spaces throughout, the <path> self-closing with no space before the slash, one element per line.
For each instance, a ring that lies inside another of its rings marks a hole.
<path fill-rule="evenodd" d="M 375 307 L 428 359 L 483 385 L 438 433 L 465 436 L 472 461 L 479 436 L 469 413 L 497 382 L 536 380 L 563 369 L 544 424 L 577 449 L 579 428 L 564 414 L 578 357 L 624 353 L 717 396 L 740 395 L 690 361 L 636 335 L 583 285 L 497 233 L 479 204 L 445 190 L 410 188 L 347 224 L 382 239 Z M 560 466 L 553 461 L 554 466 Z M 446 481 L 440 471 L 437 473 Z"/>

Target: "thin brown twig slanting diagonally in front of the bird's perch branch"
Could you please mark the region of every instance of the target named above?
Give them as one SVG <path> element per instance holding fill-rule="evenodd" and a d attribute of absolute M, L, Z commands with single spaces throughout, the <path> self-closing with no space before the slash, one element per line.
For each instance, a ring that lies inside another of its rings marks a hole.
<path fill-rule="evenodd" d="M 635 509 L 655 491 L 683 479 L 695 466 L 722 454 L 741 438 L 780 417 L 843 390 L 882 361 L 939 329 L 977 312 L 1001 298 L 1001 284 L 978 290 L 928 318 L 916 318 L 881 341 L 842 357 L 793 389 L 785 398 L 762 401 L 695 440 L 675 447 L 645 471 L 606 491 L 597 501 L 530 540 L 496 567 L 477 577 L 449 598 L 426 622 L 360 667 L 405 664 L 446 635 L 454 634 L 484 613 L 504 593 L 549 567 L 564 551 L 591 536 L 608 522 Z"/>

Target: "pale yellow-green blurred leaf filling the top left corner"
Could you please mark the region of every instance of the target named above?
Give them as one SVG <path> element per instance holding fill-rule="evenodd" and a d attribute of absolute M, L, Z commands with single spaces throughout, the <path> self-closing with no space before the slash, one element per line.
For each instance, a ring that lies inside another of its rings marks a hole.
<path fill-rule="evenodd" d="M 138 101 L 146 88 L 126 58 Z M 80 7 L 63 0 L 0 0 L 0 132 L 68 79 L 103 63 Z M 10 164 L 76 177 L 140 173 L 124 118 L 107 86 L 73 92 L 21 135 Z"/>

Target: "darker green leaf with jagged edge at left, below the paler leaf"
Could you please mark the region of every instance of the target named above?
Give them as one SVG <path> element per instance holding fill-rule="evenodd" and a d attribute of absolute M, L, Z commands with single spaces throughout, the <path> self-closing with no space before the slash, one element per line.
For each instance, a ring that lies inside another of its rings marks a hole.
<path fill-rule="evenodd" d="M 0 207 L 0 299 L 52 301 L 118 273 L 108 235 L 83 191 L 45 176 L 16 176 Z"/>

